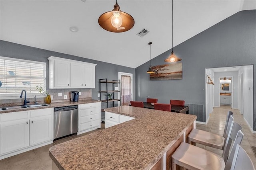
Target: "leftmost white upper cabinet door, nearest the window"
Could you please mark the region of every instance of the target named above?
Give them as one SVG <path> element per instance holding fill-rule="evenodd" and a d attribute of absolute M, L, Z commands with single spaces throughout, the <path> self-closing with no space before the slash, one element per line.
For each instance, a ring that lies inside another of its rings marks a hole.
<path fill-rule="evenodd" d="M 54 61 L 54 88 L 70 88 L 70 62 Z"/>

